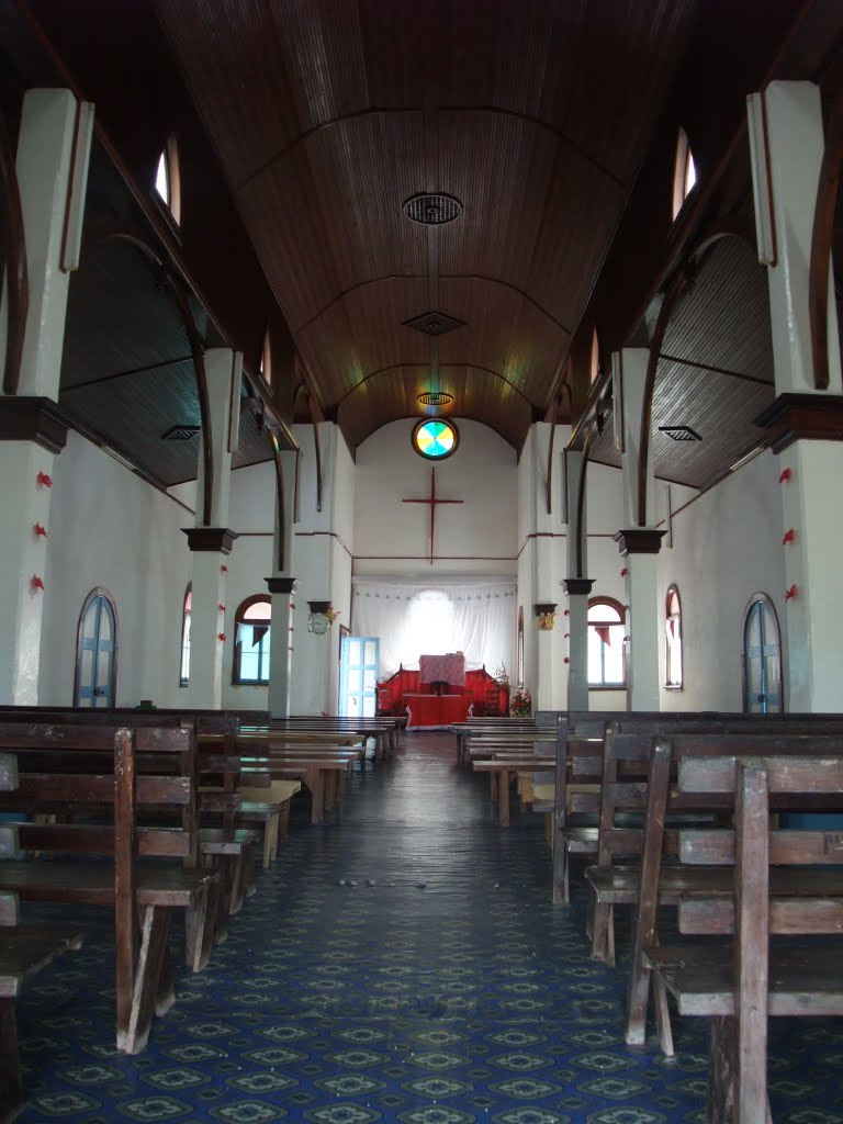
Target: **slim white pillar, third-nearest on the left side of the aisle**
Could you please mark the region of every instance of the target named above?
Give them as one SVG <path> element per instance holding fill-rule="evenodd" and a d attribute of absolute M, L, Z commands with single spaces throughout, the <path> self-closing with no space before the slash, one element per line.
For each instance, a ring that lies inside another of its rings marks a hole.
<path fill-rule="evenodd" d="M 298 582 L 293 575 L 297 501 L 298 451 L 278 453 L 281 472 L 281 493 L 275 493 L 275 534 L 273 538 L 273 573 L 266 579 L 272 600 L 272 628 L 270 631 L 270 686 L 269 710 L 271 718 L 290 715 L 290 686 L 296 644 L 293 631 Z"/>

